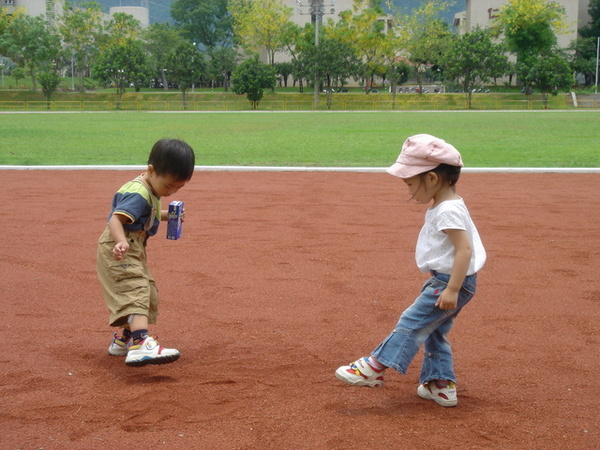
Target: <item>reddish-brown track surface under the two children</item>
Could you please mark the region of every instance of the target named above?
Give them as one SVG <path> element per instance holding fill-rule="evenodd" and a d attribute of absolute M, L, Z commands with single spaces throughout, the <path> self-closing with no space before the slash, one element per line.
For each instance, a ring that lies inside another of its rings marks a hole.
<path fill-rule="evenodd" d="M 0 171 L 2 449 L 600 448 L 598 174 L 465 173 L 488 250 L 450 334 L 459 404 L 409 373 L 353 388 L 418 294 L 425 207 L 383 173 L 197 172 L 183 238 L 149 242 L 181 359 L 126 367 L 96 279 L 116 189 L 137 172 Z"/>

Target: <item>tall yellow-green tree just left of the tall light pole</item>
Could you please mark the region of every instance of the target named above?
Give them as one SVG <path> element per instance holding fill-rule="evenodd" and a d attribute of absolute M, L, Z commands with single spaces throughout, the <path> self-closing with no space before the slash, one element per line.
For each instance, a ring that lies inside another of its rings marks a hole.
<path fill-rule="evenodd" d="M 281 0 L 230 0 L 234 31 L 242 45 L 255 53 L 265 50 L 267 61 L 275 63 L 275 53 L 284 47 L 285 25 L 292 8 Z"/>

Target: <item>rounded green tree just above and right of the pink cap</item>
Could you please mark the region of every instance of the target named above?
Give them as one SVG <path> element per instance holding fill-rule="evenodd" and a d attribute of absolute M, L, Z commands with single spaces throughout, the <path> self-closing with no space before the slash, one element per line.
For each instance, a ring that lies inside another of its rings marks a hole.
<path fill-rule="evenodd" d="M 503 46 L 494 44 L 490 32 L 481 28 L 456 37 L 444 56 L 445 76 L 459 81 L 469 108 L 473 88 L 504 75 L 508 64 Z"/>

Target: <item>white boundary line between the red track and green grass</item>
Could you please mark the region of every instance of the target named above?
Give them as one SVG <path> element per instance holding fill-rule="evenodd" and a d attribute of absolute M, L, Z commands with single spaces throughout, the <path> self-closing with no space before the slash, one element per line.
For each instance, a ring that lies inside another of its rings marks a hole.
<path fill-rule="evenodd" d="M 2 166 L 2 170 L 146 170 L 134 166 Z M 385 172 L 386 167 L 196 166 L 197 172 Z M 600 173 L 600 167 L 466 167 L 463 173 Z"/>

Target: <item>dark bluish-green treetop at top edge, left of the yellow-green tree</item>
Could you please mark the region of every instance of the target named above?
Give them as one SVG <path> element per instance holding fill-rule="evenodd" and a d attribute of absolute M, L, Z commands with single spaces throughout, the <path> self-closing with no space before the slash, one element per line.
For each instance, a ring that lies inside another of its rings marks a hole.
<path fill-rule="evenodd" d="M 233 44 L 233 23 L 228 0 L 175 0 L 171 17 L 191 42 L 207 49 Z"/>

